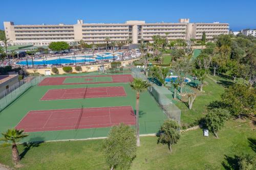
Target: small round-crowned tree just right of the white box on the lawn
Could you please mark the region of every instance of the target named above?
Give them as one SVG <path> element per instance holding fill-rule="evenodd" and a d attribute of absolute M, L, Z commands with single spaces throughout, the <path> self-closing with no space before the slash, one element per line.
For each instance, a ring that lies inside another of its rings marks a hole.
<path fill-rule="evenodd" d="M 218 131 L 224 127 L 228 117 L 229 111 L 225 109 L 211 109 L 205 116 L 206 127 L 218 138 Z"/>

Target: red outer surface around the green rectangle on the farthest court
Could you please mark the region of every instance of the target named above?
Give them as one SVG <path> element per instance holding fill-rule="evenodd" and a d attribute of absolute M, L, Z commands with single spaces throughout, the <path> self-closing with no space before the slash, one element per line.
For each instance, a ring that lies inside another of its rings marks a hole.
<path fill-rule="evenodd" d="M 81 83 L 65 83 L 70 84 L 99 84 L 99 83 L 126 83 L 132 82 L 132 75 L 100 75 L 100 76 L 72 76 L 72 77 L 50 77 L 42 80 L 38 86 L 50 86 L 50 85 L 63 85 L 66 78 L 83 78 L 86 80 L 87 77 L 112 77 L 112 82 L 81 82 Z"/>

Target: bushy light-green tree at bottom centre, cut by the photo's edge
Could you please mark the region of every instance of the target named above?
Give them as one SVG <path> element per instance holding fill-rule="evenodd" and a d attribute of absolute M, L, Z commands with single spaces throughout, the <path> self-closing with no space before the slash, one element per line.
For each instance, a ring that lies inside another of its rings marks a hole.
<path fill-rule="evenodd" d="M 134 130 L 124 124 L 112 127 L 108 137 L 103 141 L 102 149 L 111 170 L 129 169 L 136 156 Z"/>

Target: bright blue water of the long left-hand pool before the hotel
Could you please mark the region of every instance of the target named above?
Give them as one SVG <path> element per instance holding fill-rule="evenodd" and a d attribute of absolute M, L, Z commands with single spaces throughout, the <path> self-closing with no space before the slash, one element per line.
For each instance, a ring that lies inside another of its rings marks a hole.
<path fill-rule="evenodd" d="M 94 59 L 88 59 L 89 56 L 87 57 L 86 56 L 86 59 L 72 59 L 72 58 L 60 58 L 60 59 L 55 59 L 55 60 L 42 60 L 42 61 L 37 61 L 37 60 L 34 60 L 33 63 L 34 65 L 44 65 L 44 64 L 70 64 L 70 63 L 82 63 L 82 62 L 94 62 L 95 60 Z M 27 61 L 26 60 L 23 60 L 23 61 L 19 61 L 17 62 L 17 64 L 20 64 L 20 65 L 27 65 Z M 32 65 L 32 60 L 28 60 L 28 65 Z"/>

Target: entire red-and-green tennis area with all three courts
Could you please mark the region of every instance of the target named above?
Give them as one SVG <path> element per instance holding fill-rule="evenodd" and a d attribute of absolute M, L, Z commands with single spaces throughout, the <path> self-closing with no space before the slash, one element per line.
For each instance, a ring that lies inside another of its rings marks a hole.
<path fill-rule="evenodd" d="M 31 142 L 105 137 L 120 123 L 135 129 L 136 91 L 131 81 L 130 74 L 45 77 L 38 85 L 25 86 L 26 91 L 1 111 L 0 132 L 25 129 L 29 136 L 20 142 Z M 142 92 L 140 134 L 157 133 L 165 118 L 151 94 Z"/>

